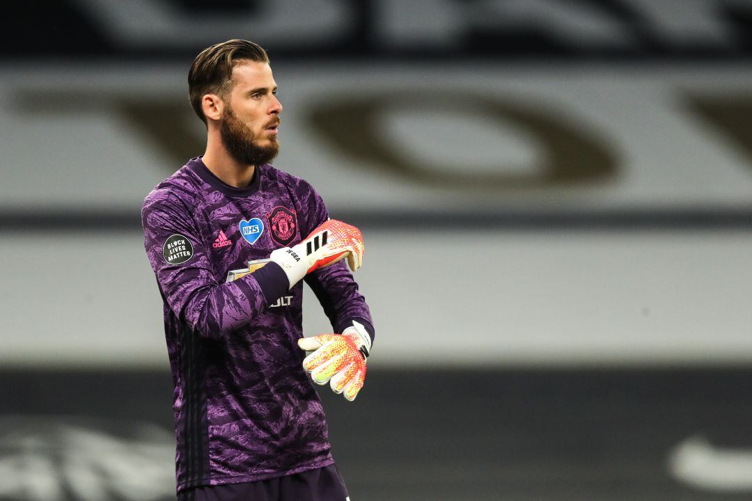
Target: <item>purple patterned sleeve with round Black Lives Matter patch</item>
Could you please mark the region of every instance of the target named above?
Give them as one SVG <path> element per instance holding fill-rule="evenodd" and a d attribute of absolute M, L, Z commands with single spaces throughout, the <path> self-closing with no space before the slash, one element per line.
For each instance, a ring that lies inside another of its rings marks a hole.
<path fill-rule="evenodd" d="M 226 337 L 265 309 L 268 303 L 253 274 L 235 282 L 217 282 L 190 210 L 171 192 L 150 193 L 141 222 L 159 289 L 178 318 L 199 336 Z M 168 263 L 163 255 L 165 243 L 174 235 L 186 238 L 193 247 L 190 258 L 180 264 Z"/>

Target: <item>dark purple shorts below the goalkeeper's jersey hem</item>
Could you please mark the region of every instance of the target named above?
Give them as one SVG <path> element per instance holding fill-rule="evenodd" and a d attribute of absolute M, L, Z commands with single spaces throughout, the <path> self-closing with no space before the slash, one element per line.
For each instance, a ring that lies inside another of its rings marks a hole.
<path fill-rule="evenodd" d="M 177 501 L 349 501 L 334 464 L 245 484 L 206 485 L 177 493 Z"/>

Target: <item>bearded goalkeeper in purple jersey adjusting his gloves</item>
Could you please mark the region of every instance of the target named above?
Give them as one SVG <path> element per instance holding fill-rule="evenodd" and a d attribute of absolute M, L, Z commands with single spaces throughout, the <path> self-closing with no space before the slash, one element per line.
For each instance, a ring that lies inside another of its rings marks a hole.
<path fill-rule="evenodd" d="M 208 47 L 188 84 L 206 151 L 159 183 L 141 213 L 164 303 L 178 498 L 344 501 L 306 370 L 348 400 L 362 386 L 374 330 L 340 261 L 359 267 L 362 236 L 269 164 L 282 105 L 265 50 Z M 265 265 L 249 268 L 257 260 Z M 338 334 L 302 338 L 304 276 Z"/>

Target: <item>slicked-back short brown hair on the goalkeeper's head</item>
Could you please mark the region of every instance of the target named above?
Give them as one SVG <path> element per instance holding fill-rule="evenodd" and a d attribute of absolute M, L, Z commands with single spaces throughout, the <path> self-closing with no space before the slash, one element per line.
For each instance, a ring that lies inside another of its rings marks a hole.
<path fill-rule="evenodd" d="M 207 94 L 227 95 L 232 89 L 232 68 L 243 59 L 269 62 L 266 51 L 253 42 L 234 38 L 202 50 L 188 72 L 188 95 L 196 115 L 206 125 L 201 101 Z"/>

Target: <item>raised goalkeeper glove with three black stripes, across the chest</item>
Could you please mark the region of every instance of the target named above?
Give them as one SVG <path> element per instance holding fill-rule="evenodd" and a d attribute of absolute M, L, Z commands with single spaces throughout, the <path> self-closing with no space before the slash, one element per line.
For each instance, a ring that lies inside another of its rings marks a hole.
<path fill-rule="evenodd" d="M 318 268 L 347 258 L 350 270 L 357 270 L 363 259 L 363 235 L 358 228 L 336 219 L 327 219 L 296 246 L 271 252 L 269 259 L 287 275 L 290 288 Z"/>

